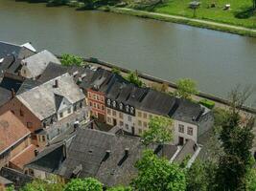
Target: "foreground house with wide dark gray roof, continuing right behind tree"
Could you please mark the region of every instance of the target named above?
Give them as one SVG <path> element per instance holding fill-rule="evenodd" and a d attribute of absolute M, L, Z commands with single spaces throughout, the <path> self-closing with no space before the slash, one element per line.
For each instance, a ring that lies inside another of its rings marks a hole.
<path fill-rule="evenodd" d="M 128 185 L 137 175 L 134 164 L 146 148 L 140 138 L 90 129 L 90 124 L 76 132 L 65 141 L 49 145 L 26 165 L 35 178 L 45 179 L 52 175 L 62 180 L 94 177 L 105 186 L 113 186 Z M 170 162 L 175 156 L 181 160 L 186 156 L 179 154 L 181 148 L 171 144 L 153 143 L 148 148 Z M 198 149 L 195 145 L 194 148 L 192 156 Z"/>

